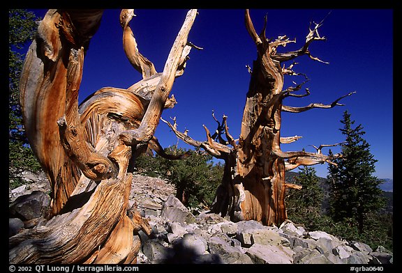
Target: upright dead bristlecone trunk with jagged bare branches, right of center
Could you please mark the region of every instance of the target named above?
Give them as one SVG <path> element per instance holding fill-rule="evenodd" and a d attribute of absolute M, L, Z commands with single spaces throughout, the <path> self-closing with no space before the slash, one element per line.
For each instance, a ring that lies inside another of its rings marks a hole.
<path fill-rule="evenodd" d="M 311 42 L 325 40 L 318 34 L 320 24 L 310 29 L 304 45 L 293 52 L 279 53 L 278 47 L 284 47 L 290 42 L 286 36 L 276 40 L 268 40 L 265 36 L 267 17 L 265 17 L 264 29 L 258 35 L 254 29 L 248 10 L 245 13 L 246 29 L 257 47 L 257 59 L 253 61 L 252 68 L 248 65 L 251 80 L 246 94 L 243 119 L 241 120 L 241 132 L 239 139 L 234 139 L 229 133 L 227 116 L 218 123 L 218 128 L 213 135 L 207 127 L 207 141 L 196 141 L 177 130 L 176 118 L 174 124 L 165 121 L 174 133 L 188 144 L 204 148 L 216 158 L 225 160 L 225 172 L 223 181 L 218 187 L 216 198 L 212 205 L 212 212 L 222 216 L 230 216 L 232 221 L 256 220 L 265 225 L 280 225 L 287 219 L 285 210 L 285 190 L 287 188 L 300 189 L 299 185 L 285 182 L 285 171 L 290 171 L 297 166 L 308 166 L 331 162 L 331 157 L 321 153 L 322 147 L 335 146 L 321 145 L 316 148 L 317 153 L 304 151 L 283 152 L 281 144 L 297 141 L 300 137 L 281 137 L 281 112 L 288 111 L 300 113 L 314 108 L 332 108 L 339 104 L 338 101 L 352 93 L 338 98 L 331 104 L 312 103 L 306 107 L 289 107 L 283 105 L 283 100 L 289 96 L 304 97 L 306 93 L 297 95 L 301 86 L 308 81 L 306 75 L 293 70 L 295 63 L 285 68 L 283 62 L 291 61 L 298 56 L 307 55 L 315 61 L 320 59 L 311 56 L 308 46 Z M 320 61 L 322 62 L 322 61 Z M 323 62 L 324 63 L 324 62 Z M 283 90 L 284 76 L 301 76 L 304 81 L 301 84 Z M 339 155 L 333 155 L 337 157 Z"/>

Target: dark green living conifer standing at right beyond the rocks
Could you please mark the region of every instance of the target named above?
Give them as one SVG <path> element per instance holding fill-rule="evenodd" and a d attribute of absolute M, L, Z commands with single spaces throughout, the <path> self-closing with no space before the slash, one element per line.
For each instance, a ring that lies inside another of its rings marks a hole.
<path fill-rule="evenodd" d="M 342 157 L 334 159 L 336 166 L 329 166 L 328 178 L 332 181 L 330 204 L 331 215 L 336 221 L 352 219 L 359 233 L 364 231 L 368 212 L 376 212 L 385 205 L 381 180 L 373 176 L 375 162 L 370 153 L 370 144 L 363 139 L 366 133 L 362 125 L 352 128 L 355 120 L 348 111 L 343 113 L 343 128 L 346 141 L 342 144 Z"/>

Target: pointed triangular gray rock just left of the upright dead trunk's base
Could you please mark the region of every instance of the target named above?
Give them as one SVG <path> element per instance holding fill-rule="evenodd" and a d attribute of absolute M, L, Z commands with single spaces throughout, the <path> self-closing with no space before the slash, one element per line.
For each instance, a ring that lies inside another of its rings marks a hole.
<path fill-rule="evenodd" d="M 194 223 L 195 217 L 191 212 L 172 194 L 168 197 L 162 205 L 161 217 L 170 219 L 170 221 L 177 221 L 179 223 Z"/>

